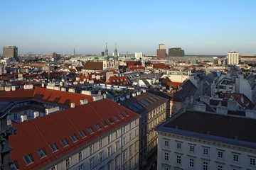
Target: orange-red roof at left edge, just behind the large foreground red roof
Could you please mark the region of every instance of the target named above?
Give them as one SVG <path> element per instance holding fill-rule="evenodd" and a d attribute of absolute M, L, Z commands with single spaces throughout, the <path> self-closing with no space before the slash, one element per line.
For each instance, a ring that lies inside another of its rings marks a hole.
<path fill-rule="evenodd" d="M 75 103 L 75 106 L 80 105 L 80 100 L 87 99 L 91 102 L 92 96 L 85 94 L 75 94 L 67 91 L 56 91 L 36 87 L 33 89 L 18 89 L 16 91 L 7 91 L 0 94 L 0 101 L 24 101 L 24 100 L 40 100 L 50 103 L 58 103 L 70 106 L 70 103 Z"/>

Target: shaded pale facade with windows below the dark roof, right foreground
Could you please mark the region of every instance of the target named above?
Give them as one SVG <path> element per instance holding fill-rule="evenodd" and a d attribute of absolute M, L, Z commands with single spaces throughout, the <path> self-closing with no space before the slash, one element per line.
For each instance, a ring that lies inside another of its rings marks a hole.
<path fill-rule="evenodd" d="M 256 149 L 159 132 L 157 169 L 256 169 Z"/>

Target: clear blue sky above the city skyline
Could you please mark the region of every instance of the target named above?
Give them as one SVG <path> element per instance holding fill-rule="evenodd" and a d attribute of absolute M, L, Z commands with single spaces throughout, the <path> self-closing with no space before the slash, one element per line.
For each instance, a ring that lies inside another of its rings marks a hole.
<path fill-rule="evenodd" d="M 159 43 L 186 55 L 256 55 L 255 0 L 0 1 L 0 54 L 155 54 Z"/>

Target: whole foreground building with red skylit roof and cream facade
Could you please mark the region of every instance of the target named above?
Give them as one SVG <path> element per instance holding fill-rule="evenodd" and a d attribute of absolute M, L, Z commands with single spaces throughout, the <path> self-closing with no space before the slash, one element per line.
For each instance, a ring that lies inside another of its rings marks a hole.
<path fill-rule="evenodd" d="M 12 169 L 138 169 L 139 115 L 109 99 L 13 127 Z"/>

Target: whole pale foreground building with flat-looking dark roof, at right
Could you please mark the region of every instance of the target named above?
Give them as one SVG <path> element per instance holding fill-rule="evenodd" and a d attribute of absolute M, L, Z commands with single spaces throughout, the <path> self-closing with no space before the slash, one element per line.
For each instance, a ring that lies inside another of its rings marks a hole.
<path fill-rule="evenodd" d="M 176 113 L 156 129 L 157 169 L 256 169 L 255 118 L 256 111 Z"/>

